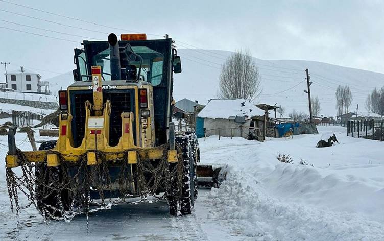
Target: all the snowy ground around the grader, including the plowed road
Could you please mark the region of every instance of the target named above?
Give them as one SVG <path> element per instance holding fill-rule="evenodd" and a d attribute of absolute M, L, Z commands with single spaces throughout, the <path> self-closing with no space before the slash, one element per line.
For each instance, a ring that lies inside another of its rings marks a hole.
<path fill-rule="evenodd" d="M 118 205 L 90 216 L 89 235 L 84 216 L 46 225 L 33 208 L 21 210 L 17 232 L 3 165 L 0 240 L 384 240 L 384 142 L 347 137 L 342 127 L 318 129 L 264 143 L 200 139 L 201 162 L 228 164 L 228 175 L 219 189 L 199 191 L 193 215 L 173 218 L 165 202 Z M 340 144 L 315 147 L 333 133 Z M 31 150 L 24 133 L 16 142 Z M 293 164 L 280 163 L 278 153 Z"/>

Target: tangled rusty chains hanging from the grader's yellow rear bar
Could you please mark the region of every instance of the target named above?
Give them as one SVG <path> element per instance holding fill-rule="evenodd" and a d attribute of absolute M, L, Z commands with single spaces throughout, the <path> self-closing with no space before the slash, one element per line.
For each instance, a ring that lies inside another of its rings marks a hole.
<path fill-rule="evenodd" d="M 73 156 L 78 158 L 77 163 L 71 163 L 64 160 L 64 155 L 57 151 L 47 151 L 47 154 L 54 153 L 58 155 L 60 165 L 58 167 L 47 167 L 44 165 L 41 168 L 39 175 L 35 175 L 33 168 L 40 163 L 33 163 L 27 160 L 26 156 L 17 149 L 17 156 L 22 170 L 22 175 L 18 177 L 12 170 L 12 168 L 6 168 L 7 176 L 7 187 L 8 196 L 11 203 L 11 210 L 16 207 L 16 216 L 18 220 L 18 214 L 20 209 L 28 208 L 34 205 L 39 213 L 45 218 L 54 220 L 65 220 L 70 221 L 75 215 L 85 213 L 87 216 L 88 226 L 88 213 L 110 208 L 118 203 L 131 203 L 126 201 L 127 198 L 131 198 L 129 194 L 130 187 L 134 180 L 137 181 L 138 194 L 141 200 L 146 201 L 148 196 L 155 198 L 154 202 L 166 198 L 166 195 L 172 195 L 174 198 L 179 199 L 182 195 L 182 174 L 183 174 L 183 163 L 178 161 L 177 164 L 170 164 L 167 162 L 167 149 L 168 145 L 164 144 L 159 148 L 163 149 L 164 157 L 159 161 L 158 165 L 154 166 L 153 161 L 148 158 L 148 152 L 146 157 L 140 159 L 140 155 L 137 155 L 136 172 L 131 176 L 131 166 L 128 164 L 128 151 L 118 152 L 113 154 L 123 154 L 123 159 L 106 160 L 106 152 L 92 151 L 95 152 L 99 161 L 96 165 L 87 165 L 87 153 L 81 156 Z M 178 159 L 182 160 L 181 148 L 178 149 Z M 67 156 L 67 155 L 65 155 Z M 69 155 L 68 155 L 69 156 Z M 114 201 L 109 199 L 109 204 L 105 203 L 103 189 L 109 189 L 111 185 L 111 177 L 108 171 L 108 163 L 119 163 L 120 172 L 118 174 L 118 184 L 120 197 Z M 41 165 L 41 164 L 40 164 Z M 69 175 L 69 168 L 74 170 L 75 173 L 71 172 Z M 58 169 L 61 169 L 61 174 L 58 174 Z M 146 178 L 150 176 L 150 178 Z M 175 191 L 175 177 L 177 177 L 177 191 Z M 50 185 L 47 185 L 49 183 Z M 98 186 L 94 186 L 94 185 Z M 37 188 L 43 187 L 43 188 Z M 93 203 L 90 198 L 90 186 L 99 190 L 101 199 L 100 206 L 90 210 L 89 206 Z M 164 195 L 156 195 L 156 190 L 162 187 L 166 190 Z M 18 192 L 22 192 L 28 198 L 28 204 L 20 206 L 18 201 Z M 66 196 L 62 196 L 66 194 Z M 57 200 L 60 200 L 56 206 L 47 205 L 43 202 L 38 202 L 37 197 L 49 197 L 55 195 Z M 68 204 L 63 203 L 63 199 L 71 197 L 71 202 Z M 15 205 L 15 206 L 14 206 Z M 38 208 L 38 205 L 42 205 L 42 208 Z M 41 211 L 42 210 L 42 211 Z M 51 210 L 51 211 L 47 211 Z M 60 215 L 52 215 L 57 212 Z M 61 218 L 60 218 L 61 217 Z"/>

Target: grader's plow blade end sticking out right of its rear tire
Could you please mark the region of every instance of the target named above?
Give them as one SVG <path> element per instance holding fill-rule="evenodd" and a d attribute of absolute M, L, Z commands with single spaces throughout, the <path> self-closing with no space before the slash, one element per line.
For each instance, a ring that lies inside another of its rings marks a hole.
<path fill-rule="evenodd" d="M 219 188 L 226 176 L 227 166 L 214 168 L 212 165 L 197 165 L 197 183 L 199 187 Z"/>

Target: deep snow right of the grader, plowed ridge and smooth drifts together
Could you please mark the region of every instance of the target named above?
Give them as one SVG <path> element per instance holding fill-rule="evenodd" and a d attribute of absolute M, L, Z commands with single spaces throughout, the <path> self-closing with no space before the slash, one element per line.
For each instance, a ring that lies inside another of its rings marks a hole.
<path fill-rule="evenodd" d="M 257 240 L 382 240 L 384 143 L 347 137 L 343 127 L 319 132 L 264 143 L 200 139 L 203 164 L 229 166 L 227 181 L 209 196 L 210 215 Z M 329 133 L 340 144 L 316 148 Z M 280 163 L 278 153 L 293 164 Z"/>

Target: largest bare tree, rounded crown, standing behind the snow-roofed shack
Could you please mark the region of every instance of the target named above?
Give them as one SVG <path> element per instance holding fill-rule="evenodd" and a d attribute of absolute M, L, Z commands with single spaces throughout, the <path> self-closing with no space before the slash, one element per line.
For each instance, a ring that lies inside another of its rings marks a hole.
<path fill-rule="evenodd" d="M 220 99 L 244 98 L 253 102 L 261 93 L 258 67 L 246 50 L 237 51 L 222 65 L 218 97 Z"/>

